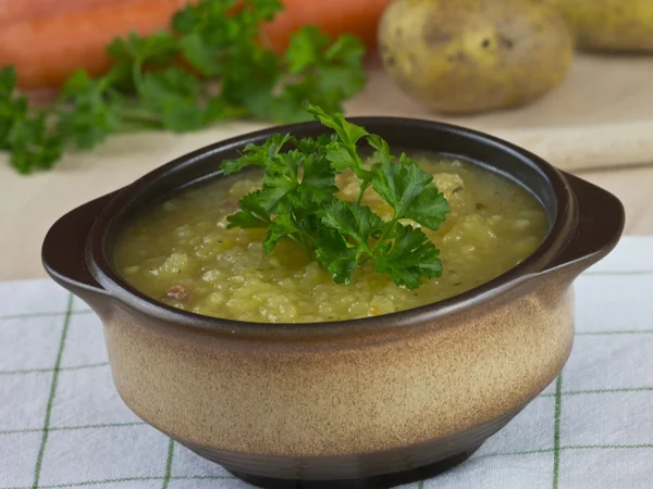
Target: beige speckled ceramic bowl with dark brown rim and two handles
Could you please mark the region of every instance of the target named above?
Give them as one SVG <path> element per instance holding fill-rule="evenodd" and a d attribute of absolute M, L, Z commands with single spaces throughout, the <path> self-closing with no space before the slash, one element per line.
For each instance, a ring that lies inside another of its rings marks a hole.
<path fill-rule="evenodd" d="M 458 154 L 531 189 L 551 222 L 532 256 L 436 304 L 374 318 L 264 325 L 174 310 L 134 290 L 112 246 L 135 210 L 285 126 L 201 149 L 63 216 L 50 275 L 104 324 L 120 396 L 144 421 L 263 487 L 391 487 L 473 453 L 535 398 L 574 340 L 572 280 L 616 244 L 612 195 L 505 141 L 433 122 L 355 120 L 391 145 Z M 63 251 L 65 250 L 65 251 Z"/>

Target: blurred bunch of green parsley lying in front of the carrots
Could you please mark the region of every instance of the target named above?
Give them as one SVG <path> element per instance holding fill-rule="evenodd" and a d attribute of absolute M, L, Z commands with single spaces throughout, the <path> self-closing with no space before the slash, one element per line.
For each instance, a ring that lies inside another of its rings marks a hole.
<path fill-rule="evenodd" d="M 260 33 L 281 10 L 280 0 L 200 0 L 177 12 L 165 32 L 116 38 L 107 47 L 109 73 L 76 72 L 46 108 L 19 93 L 15 70 L 7 66 L 0 70 L 0 149 L 28 174 L 114 133 L 184 133 L 233 117 L 297 122 L 310 117 L 309 102 L 341 110 L 366 83 L 362 43 L 304 27 L 276 55 Z"/>

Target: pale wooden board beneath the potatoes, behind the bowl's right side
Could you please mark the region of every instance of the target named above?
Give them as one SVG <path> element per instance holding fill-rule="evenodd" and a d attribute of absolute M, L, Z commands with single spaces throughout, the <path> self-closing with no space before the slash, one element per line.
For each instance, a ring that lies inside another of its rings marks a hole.
<path fill-rule="evenodd" d="M 653 163 L 653 55 L 577 54 L 565 82 L 529 105 L 445 117 L 408 99 L 380 68 L 349 114 L 432 118 L 507 139 L 565 170 Z"/>

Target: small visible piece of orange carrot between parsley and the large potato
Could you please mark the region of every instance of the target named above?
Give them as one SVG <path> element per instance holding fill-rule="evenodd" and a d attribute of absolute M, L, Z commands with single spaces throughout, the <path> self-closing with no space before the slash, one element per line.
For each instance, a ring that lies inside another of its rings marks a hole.
<path fill-rule="evenodd" d="M 284 10 L 264 26 L 272 49 L 282 52 L 304 25 L 318 25 L 331 36 L 354 34 L 368 48 L 377 46 L 377 26 L 392 0 L 284 0 Z"/>

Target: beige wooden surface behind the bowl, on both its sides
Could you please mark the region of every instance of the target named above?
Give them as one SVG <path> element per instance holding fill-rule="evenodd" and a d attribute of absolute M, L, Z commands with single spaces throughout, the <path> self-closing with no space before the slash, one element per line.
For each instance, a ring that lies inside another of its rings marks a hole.
<path fill-rule="evenodd" d="M 374 70 L 367 91 L 348 104 L 348 115 L 443 118 L 426 113 Z M 625 233 L 653 235 L 652 73 L 653 57 L 578 57 L 565 83 L 533 104 L 446 121 L 504 137 L 612 191 L 626 206 Z M 235 122 L 184 136 L 116 136 L 28 177 L 0 155 L 0 280 L 46 276 L 42 238 L 65 212 L 188 151 L 260 127 Z"/>

